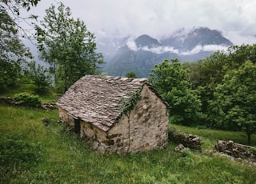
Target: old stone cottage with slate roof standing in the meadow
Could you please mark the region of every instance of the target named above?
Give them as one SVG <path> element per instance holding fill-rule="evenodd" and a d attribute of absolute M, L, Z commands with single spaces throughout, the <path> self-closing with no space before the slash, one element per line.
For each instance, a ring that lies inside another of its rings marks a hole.
<path fill-rule="evenodd" d="M 146 78 L 86 75 L 57 102 L 59 118 L 99 153 L 167 146 L 167 104 Z"/>

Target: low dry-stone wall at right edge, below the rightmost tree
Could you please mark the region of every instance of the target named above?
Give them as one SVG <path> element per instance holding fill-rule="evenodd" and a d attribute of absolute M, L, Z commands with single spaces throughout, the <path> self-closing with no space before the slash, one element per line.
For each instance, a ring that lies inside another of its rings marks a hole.
<path fill-rule="evenodd" d="M 218 141 L 214 150 L 223 154 L 228 154 L 233 158 L 242 158 L 256 162 L 256 148 L 235 143 L 233 141 Z"/>

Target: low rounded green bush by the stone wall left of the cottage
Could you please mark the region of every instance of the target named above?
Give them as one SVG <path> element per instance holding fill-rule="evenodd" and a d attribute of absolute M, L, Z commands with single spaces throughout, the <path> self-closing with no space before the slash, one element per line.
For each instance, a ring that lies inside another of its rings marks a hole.
<path fill-rule="evenodd" d="M 15 94 L 14 100 L 21 106 L 40 107 L 42 104 L 38 95 L 30 95 L 28 93 Z"/>

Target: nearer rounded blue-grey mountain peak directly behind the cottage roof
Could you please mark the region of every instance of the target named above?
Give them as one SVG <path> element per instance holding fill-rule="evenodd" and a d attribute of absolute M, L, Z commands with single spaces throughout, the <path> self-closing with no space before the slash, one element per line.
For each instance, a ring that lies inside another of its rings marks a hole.
<path fill-rule="evenodd" d="M 142 35 L 134 41 L 122 46 L 110 63 L 106 66 L 106 73 L 114 76 L 125 76 L 134 71 L 139 78 L 147 77 L 163 58 L 177 58 L 177 54 L 161 52 L 162 44 L 148 35 Z"/>

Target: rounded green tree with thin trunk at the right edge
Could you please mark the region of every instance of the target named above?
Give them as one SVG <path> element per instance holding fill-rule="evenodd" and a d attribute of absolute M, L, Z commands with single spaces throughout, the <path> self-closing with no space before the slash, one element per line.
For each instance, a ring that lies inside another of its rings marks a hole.
<path fill-rule="evenodd" d="M 230 130 L 244 130 L 248 144 L 256 132 L 256 64 L 246 61 L 230 70 L 214 93 L 215 121 Z"/>

